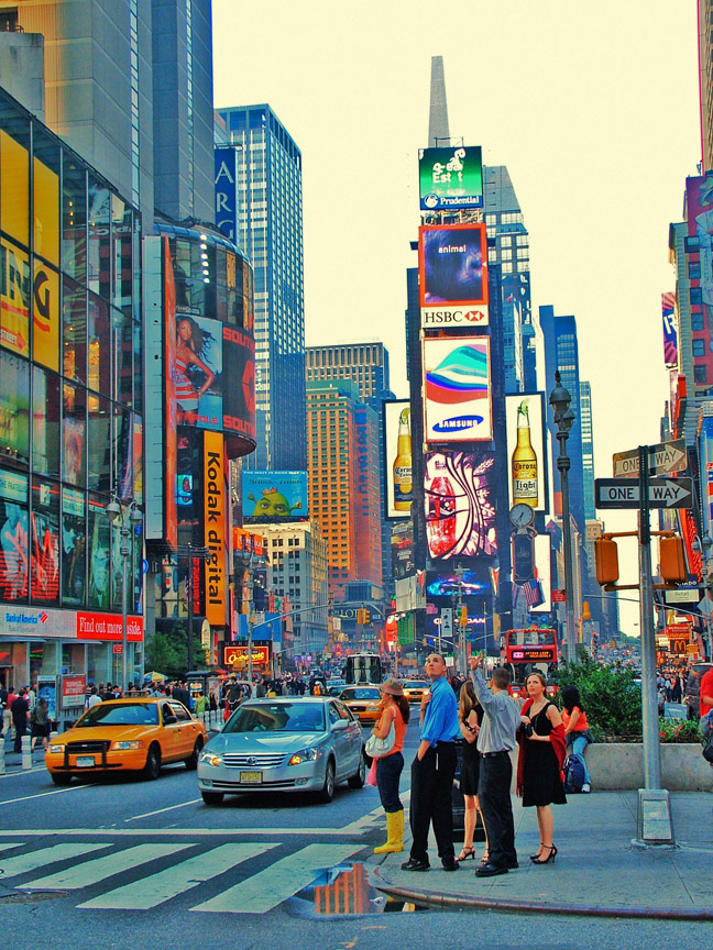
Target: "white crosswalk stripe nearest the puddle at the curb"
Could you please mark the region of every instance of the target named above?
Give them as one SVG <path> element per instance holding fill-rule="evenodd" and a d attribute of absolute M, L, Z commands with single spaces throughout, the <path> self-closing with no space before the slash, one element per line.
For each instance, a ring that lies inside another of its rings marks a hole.
<path fill-rule="evenodd" d="M 358 842 L 308 844 L 190 909 L 221 914 L 264 914 L 310 884 L 325 868 L 339 864 L 363 847 Z"/>

